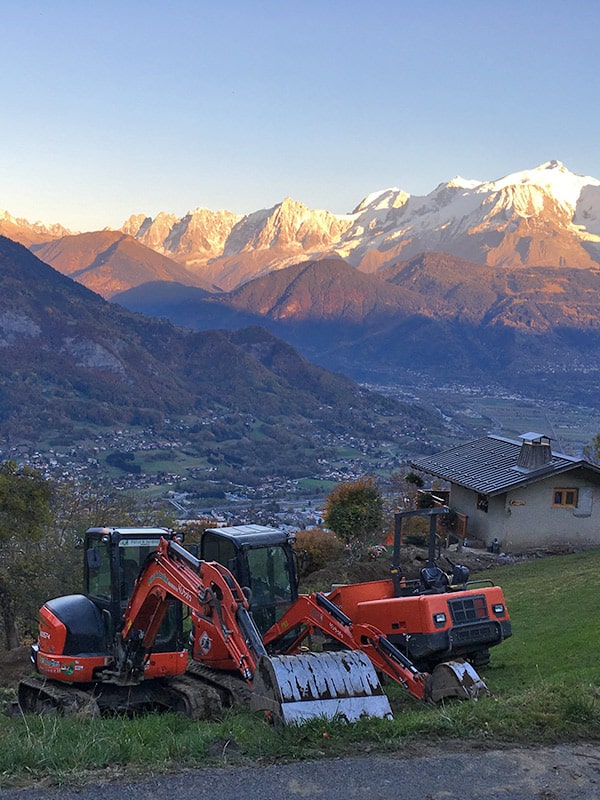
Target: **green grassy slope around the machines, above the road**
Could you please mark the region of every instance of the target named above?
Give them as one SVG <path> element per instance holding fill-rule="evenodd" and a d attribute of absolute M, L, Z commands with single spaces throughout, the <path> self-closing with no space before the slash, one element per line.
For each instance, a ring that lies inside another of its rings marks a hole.
<path fill-rule="evenodd" d="M 477 703 L 419 705 L 387 686 L 395 719 L 314 721 L 275 731 L 259 714 L 220 723 L 137 719 L 0 719 L 0 785 L 62 783 L 126 772 L 249 760 L 392 752 L 441 739 L 542 743 L 600 739 L 600 550 L 486 573 L 504 589 L 513 637 L 492 652 Z M 73 742 L 77 742 L 74 747 Z"/>

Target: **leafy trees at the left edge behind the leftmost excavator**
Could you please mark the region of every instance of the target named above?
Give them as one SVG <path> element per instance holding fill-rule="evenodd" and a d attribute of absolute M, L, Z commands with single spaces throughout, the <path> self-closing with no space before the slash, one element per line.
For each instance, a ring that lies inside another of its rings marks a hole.
<path fill-rule="evenodd" d="M 174 527 L 167 509 L 141 506 L 99 482 L 57 483 L 0 464 L 0 626 L 5 646 L 36 635 L 40 606 L 82 589 L 81 543 L 90 527 Z"/>

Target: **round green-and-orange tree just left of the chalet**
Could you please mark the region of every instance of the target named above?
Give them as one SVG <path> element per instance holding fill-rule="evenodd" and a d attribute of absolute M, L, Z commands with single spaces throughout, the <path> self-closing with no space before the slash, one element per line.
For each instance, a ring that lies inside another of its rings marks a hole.
<path fill-rule="evenodd" d="M 374 478 L 337 486 L 325 502 L 323 520 L 346 547 L 357 547 L 359 553 L 376 542 L 383 529 L 383 497 Z"/>

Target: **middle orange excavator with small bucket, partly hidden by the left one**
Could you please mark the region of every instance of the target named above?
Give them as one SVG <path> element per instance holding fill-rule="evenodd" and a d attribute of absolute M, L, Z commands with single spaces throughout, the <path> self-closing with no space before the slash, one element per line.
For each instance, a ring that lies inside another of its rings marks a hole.
<path fill-rule="evenodd" d="M 476 699 L 487 687 L 471 664 L 447 657 L 431 672 L 382 633 L 376 620 L 358 621 L 323 593 L 299 594 L 293 534 L 264 525 L 209 528 L 202 534 L 202 558 L 226 564 L 248 587 L 252 616 L 269 653 L 294 653 L 317 635 L 325 650 L 360 649 L 378 673 L 400 683 L 419 700 Z M 281 682 L 285 679 L 280 676 Z M 267 685 L 274 681 L 265 675 Z"/>

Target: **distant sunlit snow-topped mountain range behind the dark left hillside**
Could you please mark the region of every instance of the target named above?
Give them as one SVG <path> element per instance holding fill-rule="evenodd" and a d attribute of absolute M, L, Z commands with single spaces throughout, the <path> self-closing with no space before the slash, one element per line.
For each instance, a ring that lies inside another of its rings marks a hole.
<path fill-rule="evenodd" d="M 3 227 L 4 226 L 4 227 Z M 561 162 L 346 215 L 133 215 L 120 231 L 0 231 L 128 308 L 197 330 L 262 325 L 358 380 L 407 371 L 590 399 L 600 369 L 600 181 Z M 553 376 L 560 374 L 564 380 Z"/>

